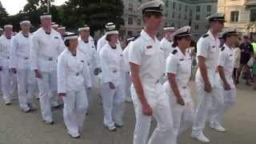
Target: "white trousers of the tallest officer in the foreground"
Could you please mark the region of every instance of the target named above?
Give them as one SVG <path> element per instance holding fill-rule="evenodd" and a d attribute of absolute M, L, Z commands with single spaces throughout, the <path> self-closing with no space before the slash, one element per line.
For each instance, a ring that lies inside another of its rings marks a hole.
<path fill-rule="evenodd" d="M 174 144 L 173 119 L 170 110 L 170 99 L 163 86 L 158 82 L 142 84 L 147 102 L 153 110 L 153 117 L 158 122 L 154 133 L 147 142 L 150 134 L 151 117 L 142 112 L 142 105 L 138 95 L 131 86 L 131 95 L 134 102 L 136 124 L 134 130 L 134 144 Z"/>

